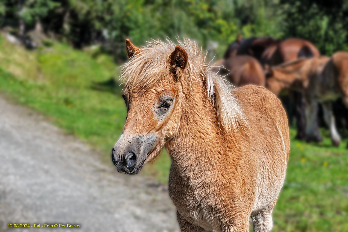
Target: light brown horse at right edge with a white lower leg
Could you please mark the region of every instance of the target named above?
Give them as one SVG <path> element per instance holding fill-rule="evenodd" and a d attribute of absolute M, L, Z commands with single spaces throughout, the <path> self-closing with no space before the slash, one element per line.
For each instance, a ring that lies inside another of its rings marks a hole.
<path fill-rule="evenodd" d="M 348 107 L 348 52 L 337 52 L 331 58 L 321 56 L 298 59 L 270 68 L 267 75 L 267 87 L 273 93 L 279 94 L 282 89 L 303 93 L 306 102 L 306 136 L 309 140 L 315 136 L 315 107 L 320 102 L 332 144 L 339 145 L 341 138 L 335 126 L 332 103 L 341 97 Z"/>

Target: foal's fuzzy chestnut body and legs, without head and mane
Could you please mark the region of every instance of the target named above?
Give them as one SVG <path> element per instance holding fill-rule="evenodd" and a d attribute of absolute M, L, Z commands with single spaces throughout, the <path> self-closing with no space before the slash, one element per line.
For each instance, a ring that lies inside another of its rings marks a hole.
<path fill-rule="evenodd" d="M 255 231 L 272 227 L 290 147 L 286 114 L 262 87 L 245 86 L 233 94 L 247 112 L 247 133 L 221 133 L 211 104 L 203 102 L 197 108 L 207 113 L 185 113 L 166 146 L 172 158 L 169 194 L 182 231 L 248 231 L 251 215 Z"/>

